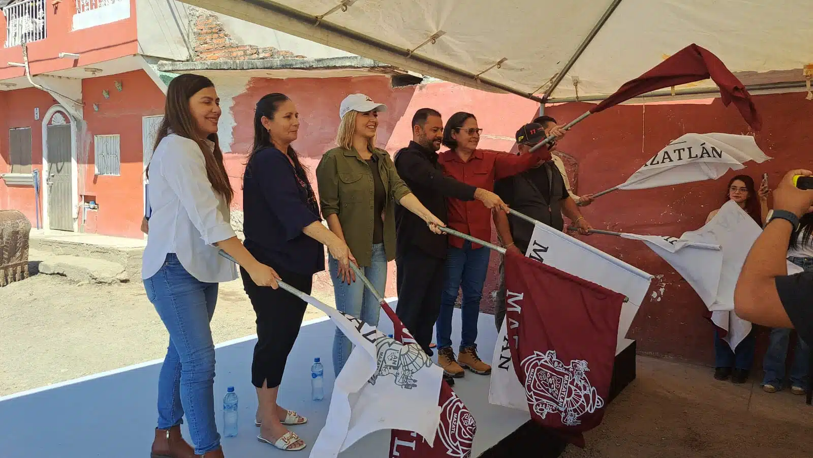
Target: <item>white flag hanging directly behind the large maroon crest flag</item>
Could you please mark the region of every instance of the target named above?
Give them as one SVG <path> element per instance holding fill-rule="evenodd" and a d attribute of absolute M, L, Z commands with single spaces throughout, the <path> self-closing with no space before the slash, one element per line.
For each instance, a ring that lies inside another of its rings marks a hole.
<path fill-rule="evenodd" d="M 628 302 L 621 307 L 616 352 L 624 346 L 624 337 L 650 288 L 652 275 L 547 225 L 534 227 L 525 255 L 626 295 Z M 567 304 L 563 303 L 562 307 Z M 494 347 L 489 403 L 528 411 L 524 387 L 511 361 L 506 334 L 506 326 L 511 325 L 508 321 L 503 321 Z"/>

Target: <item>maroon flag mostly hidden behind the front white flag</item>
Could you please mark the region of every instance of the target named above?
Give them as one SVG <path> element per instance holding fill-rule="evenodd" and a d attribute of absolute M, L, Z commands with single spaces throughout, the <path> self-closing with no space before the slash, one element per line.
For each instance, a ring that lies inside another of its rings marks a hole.
<path fill-rule="evenodd" d="M 535 262 L 535 261 L 534 261 Z M 393 321 L 393 338 L 398 342 L 418 345 L 401 320 L 386 302 L 381 308 Z M 468 458 L 472 456 L 472 443 L 477 424 L 466 404 L 454 394 L 446 381 L 441 382 L 441 422 L 437 425 L 434 443 L 428 443 L 420 434 L 405 430 L 392 430 L 389 439 L 390 458 Z"/>

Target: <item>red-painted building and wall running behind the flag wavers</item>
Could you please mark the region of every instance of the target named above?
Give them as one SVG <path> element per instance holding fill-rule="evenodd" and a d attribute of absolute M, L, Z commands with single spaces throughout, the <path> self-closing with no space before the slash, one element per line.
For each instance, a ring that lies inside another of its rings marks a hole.
<path fill-rule="evenodd" d="M 16 7 L 21 4 L 33 9 Z M 104 10 L 111 5 L 115 9 Z M 22 13 L 35 19 L 24 21 L 25 28 L 20 28 Z M 346 94 L 361 92 L 387 104 L 378 142 L 390 153 L 411 139 L 411 116 L 420 107 L 433 107 L 446 117 L 455 111 L 474 113 L 484 129 L 480 146 L 506 151 L 514 148 L 516 129 L 538 111 L 537 103 L 514 95 L 446 82 L 415 84 L 420 78 L 398 69 L 319 50 L 312 43 L 297 45 L 274 31 L 179 3 L 120 0 L 84 10 L 73 2 L 26 0 L 7 6 L 4 15 L 0 207 L 19 209 L 46 229 L 141 237 L 142 171 L 166 89 L 159 70 L 196 72 L 215 82 L 224 109 L 220 141 L 238 210 L 254 104 L 270 92 L 288 94 L 297 103 L 302 127 L 294 146 L 311 172 L 333 146 L 338 107 Z M 23 67 L 9 64 L 25 64 L 23 38 L 28 40 L 31 81 Z M 754 99 L 764 119 L 757 143 L 775 159 L 743 172 L 755 179 L 768 172 L 775 185 L 789 168 L 809 165 L 813 103 L 804 93 Z M 546 114 L 567 121 L 588 107 L 567 103 L 546 107 Z M 623 105 L 589 117 L 559 148 L 572 158 L 568 162 L 574 190 L 587 194 L 620 184 L 661 146 L 689 132 L 748 130 L 737 111 L 723 107 L 717 98 Z M 40 173 L 38 202 L 35 170 Z M 720 207 L 724 181 L 616 191 L 583 212 L 597 228 L 678 236 L 698 229 L 706 215 Z M 702 318 L 702 302 L 672 268 L 640 242 L 602 235 L 585 240 L 656 276 L 629 334 L 638 339 L 641 351 L 712 360 L 712 329 Z M 493 255 L 485 303 L 496 287 L 496 263 Z M 387 292 L 392 295 L 394 264 L 390 274 Z"/>

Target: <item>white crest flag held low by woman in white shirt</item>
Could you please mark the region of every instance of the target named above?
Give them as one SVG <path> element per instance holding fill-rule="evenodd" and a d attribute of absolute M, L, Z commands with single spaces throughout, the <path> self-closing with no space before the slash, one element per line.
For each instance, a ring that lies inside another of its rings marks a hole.
<path fill-rule="evenodd" d="M 443 369 L 417 344 L 402 344 L 318 299 L 301 297 L 325 312 L 354 344 L 336 377 L 328 418 L 311 458 L 335 458 L 377 430 L 414 431 L 434 438 L 441 420 L 437 399 Z"/>

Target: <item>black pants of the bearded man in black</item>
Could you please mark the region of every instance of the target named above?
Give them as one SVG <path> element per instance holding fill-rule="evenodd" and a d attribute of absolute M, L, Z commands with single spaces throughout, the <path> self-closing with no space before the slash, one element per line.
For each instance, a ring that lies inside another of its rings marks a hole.
<path fill-rule="evenodd" d="M 395 313 L 418 345 L 429 352 L 432 331 L 441 312 L 445 260 L 415 247 L 396 258 L 395 265 L 398 267 L 398 308 Z"/>

